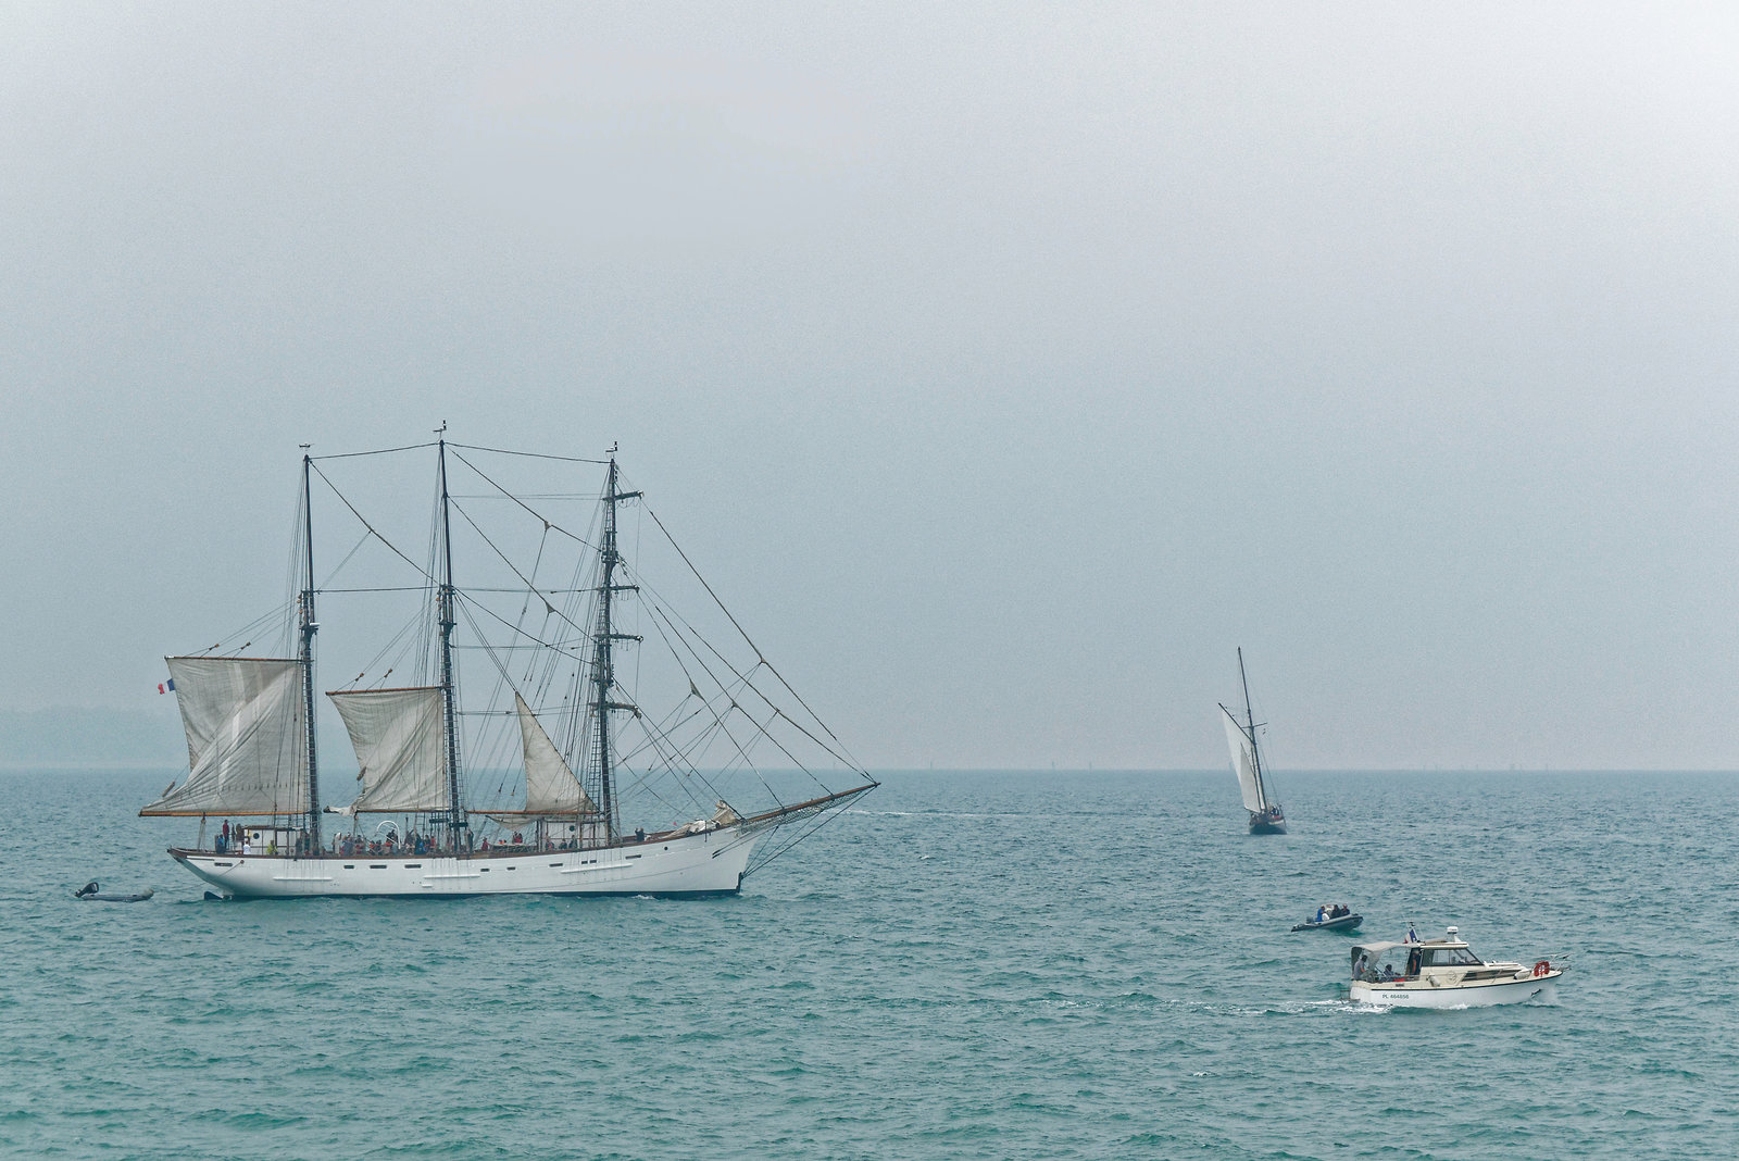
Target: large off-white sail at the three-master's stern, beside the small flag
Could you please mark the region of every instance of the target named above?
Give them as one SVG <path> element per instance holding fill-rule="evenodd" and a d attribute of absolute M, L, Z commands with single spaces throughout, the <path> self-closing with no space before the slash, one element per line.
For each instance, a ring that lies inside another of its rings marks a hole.
<path fill-rule="evenodd" d="M 261 657 L 165 657 L 188 732 L 188 777 L 143 815 L 308 810 L 303 666 Z"/>

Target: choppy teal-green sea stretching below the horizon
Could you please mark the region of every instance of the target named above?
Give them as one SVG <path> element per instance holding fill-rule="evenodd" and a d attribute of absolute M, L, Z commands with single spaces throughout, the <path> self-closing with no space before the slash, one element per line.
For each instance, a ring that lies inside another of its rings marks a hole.
<path fill-rule="evenodd" d="M 7 1156 L 1739 1154 L 1734 775 L 896 773 L 736 899 L 256 904 L 169 777 L 0 773 Z M 1353 1006 L 1330 900 L 1574 966 Z"/>

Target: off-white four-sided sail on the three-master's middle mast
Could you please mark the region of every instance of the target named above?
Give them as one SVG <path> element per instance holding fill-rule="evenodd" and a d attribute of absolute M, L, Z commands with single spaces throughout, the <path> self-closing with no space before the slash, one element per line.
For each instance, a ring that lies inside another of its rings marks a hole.
<path fill-rule="evenodd" d="M 442 687 L 327 693 L 362 766 L 351 810 L 447 810 Z"/>

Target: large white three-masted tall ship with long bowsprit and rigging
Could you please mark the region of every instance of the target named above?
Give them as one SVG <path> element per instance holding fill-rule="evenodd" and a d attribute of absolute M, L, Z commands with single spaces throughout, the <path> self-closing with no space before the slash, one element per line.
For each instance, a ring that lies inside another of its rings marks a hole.
<path fill-rule="evenodd" d="M 534 455 L 445 431 L 304 445 L 285 603 L 240 647 L 165 659 L 188 772 L 139 813 L 197 820 L 176 862 L 235 899 L 729 895 L 875 789 L 626 487 L 614 445 Z M 417 455 L 435 501 L 416 523 L 344 476 L 402 480 Z M 602 488 L 574 490 L 579 473 Z M 318 582 L 316 511 L 350 546 Z M 642 572 L 640 546 L 673 575 Z M 699 612 L 678 610 L 682 589 Z M 339 601 L 358 607 L 322 636 L 316 603 Z M 277 655 L 252 648 L 273 631 Z M 351 786 L 320 746 L 316 640 L 327 669 L 360 666 L 325 690 Z"/>

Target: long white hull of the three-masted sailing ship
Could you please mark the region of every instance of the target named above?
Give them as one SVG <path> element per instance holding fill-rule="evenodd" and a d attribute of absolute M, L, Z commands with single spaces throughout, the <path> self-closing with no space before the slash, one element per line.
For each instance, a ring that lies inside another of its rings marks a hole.
<path fill-rule="evenodd" d="M 734 895 L 758 834 L 736 827 L 598 850 L 470 855 L 217 855 L 170 848 L 233 899 Z"/>

